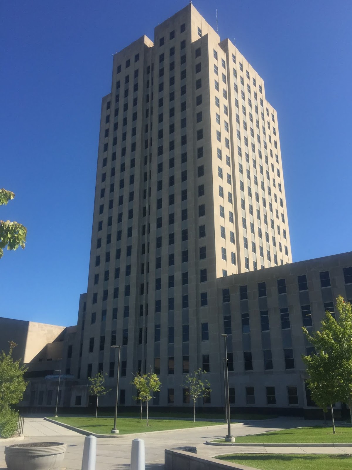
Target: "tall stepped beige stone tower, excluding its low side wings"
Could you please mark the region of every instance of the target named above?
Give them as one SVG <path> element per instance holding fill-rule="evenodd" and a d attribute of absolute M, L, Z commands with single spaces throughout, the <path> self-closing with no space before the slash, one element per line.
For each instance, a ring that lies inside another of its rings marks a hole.
<path fill-rule="evenodd" d="M 132 374 L 152 368 L 181 405 L 184 373 L 207 368 L 204 356 L 222 368 L 220 336 L 207 354 L 201 345 L 203 323 L 221 330 L 216 280 L 291 261 L 276 111 L 253 67 L 187 5 L 154 42 L 114 55 L 78 378 L 103 370 L 112 386 L 121 345 L 120 402 L 134 403 Z"/>

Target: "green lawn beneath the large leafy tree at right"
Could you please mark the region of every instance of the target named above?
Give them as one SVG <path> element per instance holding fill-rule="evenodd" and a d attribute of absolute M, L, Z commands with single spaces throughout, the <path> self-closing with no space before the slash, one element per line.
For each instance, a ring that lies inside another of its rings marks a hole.
<path fill-rule="evenodd" d="M 225 442 L 218 439 L 215 442 Z M 336 427 L 336 434 L 332 428 L 314 426 L 297 429 L 284 429 L 283 431 L 269 431 L 262 434 L 253 434 L 236 437 L 236 442 L 246 443 L 304 443 L 304 442 L 352 442 L 352 428 Z"/>

